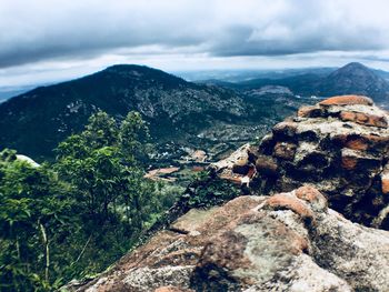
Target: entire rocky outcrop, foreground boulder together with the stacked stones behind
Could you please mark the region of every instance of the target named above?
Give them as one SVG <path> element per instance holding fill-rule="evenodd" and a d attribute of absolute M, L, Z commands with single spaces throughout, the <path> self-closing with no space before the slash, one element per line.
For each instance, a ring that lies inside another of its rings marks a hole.
<path fill-rule="evenodd" d="M 147 243 L 68 288 L 388 291 L 389 232 L 380 230 L 389 229 L 388 121 L 359 95 L 301 108 L 260 143 L 210 165 L 208 183 L 232 181 L 250 195 L 209 208 L 190 204 L 196 192 L 187 192 Z"/>

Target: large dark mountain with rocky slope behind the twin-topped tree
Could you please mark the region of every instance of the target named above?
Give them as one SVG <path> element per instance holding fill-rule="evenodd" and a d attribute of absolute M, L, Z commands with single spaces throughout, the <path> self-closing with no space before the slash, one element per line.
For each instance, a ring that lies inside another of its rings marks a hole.
<path fill-rule="evenodd" d="M 0 104 L 0 149 L 37 158 L 86 124 L 97 110 L 123 118 L 139 111 L 157 140 L 186 139 L 217 121 L 239 120 L 242 100 L 227 89 L 196 84 L 160 70 L 113 66 L 103 71 L 32 91 Z"/>

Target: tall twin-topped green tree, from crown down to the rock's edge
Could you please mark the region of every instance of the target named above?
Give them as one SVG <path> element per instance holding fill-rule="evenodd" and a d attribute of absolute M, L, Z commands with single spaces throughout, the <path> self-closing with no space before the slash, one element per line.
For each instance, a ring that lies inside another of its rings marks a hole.
<path fill-rule="evenodd" d="M 54 170 L 71 185 L 90 239 L 78 264 L 83 272 L 99 271 L 122 255 L 161 211 L 156 183 L 143 179 L 140 162 L 148 138 L 140 114 L 130 112 L 118 123 L 98 112 L 83 132 L 57 149 Z"/>

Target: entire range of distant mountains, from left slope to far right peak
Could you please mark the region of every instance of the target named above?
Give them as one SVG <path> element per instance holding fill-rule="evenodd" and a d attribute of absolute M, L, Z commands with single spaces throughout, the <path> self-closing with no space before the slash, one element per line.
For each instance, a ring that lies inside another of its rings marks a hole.
<path fill-rule="evenodd" d="M 134 110 L 149 122 L 157 143 L 200 149 L 219 143 L 226 151 L 248 142 L 247 133 L 262 137 L 300 105 L 315 103 L 311 95 L 367 94 L 388 104 L 388 82 L 359 63 L 287 74 L 193 83 L 148 67 L 112 66 L 0 103 L 0 149 L 12 148 L 40 161 L 53 155 L 58 142 L 81 131 L 93 112 L 103 110 L 120 120 Z M 222 152 L 216 149 L 216 154 Z"/>

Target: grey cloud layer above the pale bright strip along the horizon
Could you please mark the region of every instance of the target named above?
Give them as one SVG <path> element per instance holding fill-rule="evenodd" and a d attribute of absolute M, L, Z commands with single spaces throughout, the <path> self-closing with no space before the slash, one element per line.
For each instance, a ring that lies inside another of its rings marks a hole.
<path fill-rule="evenodd" d="M 386 50 L 386 6 L 383 0 L 1 0 L 0 68 L 144 46 L 164 53 L 191 47 L 215 57 Z"/>

